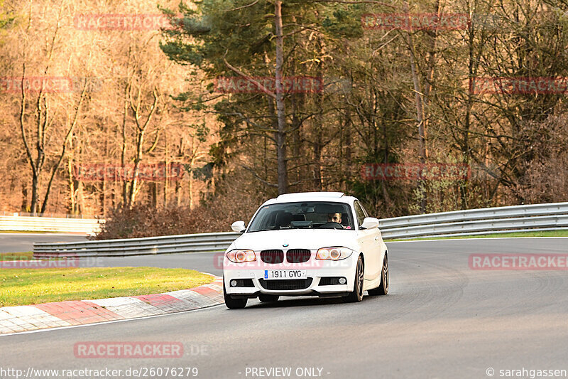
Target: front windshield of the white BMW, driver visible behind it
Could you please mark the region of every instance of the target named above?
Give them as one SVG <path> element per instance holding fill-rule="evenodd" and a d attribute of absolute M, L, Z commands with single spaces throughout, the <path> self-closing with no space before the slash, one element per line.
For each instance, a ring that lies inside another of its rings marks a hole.
<path fill-rule="evenodd" d="M 280 229 L 354 230 L 353 215 L 345 203 L 314 201 L 271 204 L 258 210 L 248 231 Z"/>

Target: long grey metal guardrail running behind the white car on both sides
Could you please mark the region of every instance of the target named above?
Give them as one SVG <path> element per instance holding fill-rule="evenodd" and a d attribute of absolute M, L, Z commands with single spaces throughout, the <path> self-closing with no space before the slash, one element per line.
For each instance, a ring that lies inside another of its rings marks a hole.
<path fill-rule="evenodd" d="M 500 208 L 385 218 L 379 221 L 385 240 L 445 237 L 531 230 L 568 229 L 568 203 L 515 205 Z M 66 243 L 35 243 L 33 256 L 109 257 L 210 252 L 225 250 L 239 233 L 204 233 Z"/>

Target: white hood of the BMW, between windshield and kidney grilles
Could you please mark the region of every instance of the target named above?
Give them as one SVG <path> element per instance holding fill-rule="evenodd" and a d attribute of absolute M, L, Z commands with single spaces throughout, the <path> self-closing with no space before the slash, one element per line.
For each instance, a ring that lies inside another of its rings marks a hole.
<path fill-rule="evenodd" d="M 359 250 L 356 230 L 291 229 L 244 233 L 231 245 L 231 249 L 310 249 L 343 246 Z M 285 246 L 288 245 L 288 246 Z"/>

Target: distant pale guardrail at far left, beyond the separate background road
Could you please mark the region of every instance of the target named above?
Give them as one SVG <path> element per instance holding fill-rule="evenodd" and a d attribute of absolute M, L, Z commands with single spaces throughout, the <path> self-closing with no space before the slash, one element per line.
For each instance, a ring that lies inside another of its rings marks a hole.
<path fill-rule="evenodd" d="M 1 231 L 94 234 L 99 232 L 100 223 L 104 223 L 104 220 L 0 215 Z"/>

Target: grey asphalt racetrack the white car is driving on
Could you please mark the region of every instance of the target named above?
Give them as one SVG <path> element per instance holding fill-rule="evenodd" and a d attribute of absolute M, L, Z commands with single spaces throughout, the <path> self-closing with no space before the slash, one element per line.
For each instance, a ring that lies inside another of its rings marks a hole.
<path fill-rule="evenodd" d="M 567 238 L 387 245 L 391 289 L 385 297 L 365 297 L 358 304 L 310 297 L 281 298 L 275 304 L 249 300 L 246 309 L 222 305 L 1 336 L 0 368 L 24 373 L 30 367 L 114 368 L 124 373 L 129 368 L 189 367 L 197 368 L 197 376 L 190 371 L 181 377 L 216 379 L 503 378 L 504 370 L 524 368 L 528 375 L 528 370 L 568 370 L 566 269 L 469 265 L 472 254 L 567 255 Z M 204 253 L 104 258 L 97 264 L 221 274 L 215 260 L 214 253 Z M 75 343 L 85 341 L 175 341 L 183 343 L 185 352 L 182 358 L 165 359 L 76 358 Z M 290 368 L 290 374 L 277 376 L 286 371 L 275 368 Z M 41 376 L 48 377 L 55 376 Z"/>

